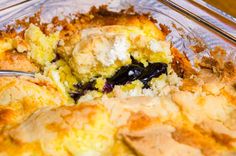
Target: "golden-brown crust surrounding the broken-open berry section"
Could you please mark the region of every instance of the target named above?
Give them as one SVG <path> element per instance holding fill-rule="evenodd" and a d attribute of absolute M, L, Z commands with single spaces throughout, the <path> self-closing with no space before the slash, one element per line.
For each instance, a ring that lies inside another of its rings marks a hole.
<path fill-rule="evenodd" d="M 104 9 L 71 22 L 54 18 L 52 23 L 63 26 L 60 35 L 67 45 L 81 29 L 114 24 L 146 27 L 165 39 L 146 16 Z M 50 33 L 45 25 L 41 29 Z M 16 48 L 6 47 L 0 69 L 41 70 L 24 53 L 15 53 Z M 155 97 L 104 96 L 72 105 L 46 79 L 0 77 L 0 155 L 236 155 L 235 65 L 212 56 L 203 58 L 195 71 L 174 48 L 172 55 L 183 84 Z"/>

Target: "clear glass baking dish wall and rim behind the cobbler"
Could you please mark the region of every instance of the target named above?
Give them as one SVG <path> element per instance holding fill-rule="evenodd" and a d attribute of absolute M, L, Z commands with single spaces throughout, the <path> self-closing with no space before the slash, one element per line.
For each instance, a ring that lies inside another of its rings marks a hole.
<path fill-rule="evenodd" d="M 149 13 L 158 27 L 162 24 L 171 30 L 167 40 L 191 62 L 196 57 L 209 55 L 216 46 L 236 60 L 235 18 L 201 0 L 3 0 L 0 2 L 0 29 L 39 10 L 41 21 L 50 22 L 54 16 L 73 18 L 74 13 L 86 13 L 92 6 L 101 5 L 107 5 L 111 11 L 134 7 L 135 12 Z M 196 51 L 194 47 L 201 48 Z"/>

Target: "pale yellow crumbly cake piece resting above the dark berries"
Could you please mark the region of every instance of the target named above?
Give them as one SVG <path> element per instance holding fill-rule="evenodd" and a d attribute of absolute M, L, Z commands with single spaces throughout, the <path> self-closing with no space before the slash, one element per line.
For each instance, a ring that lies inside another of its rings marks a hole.
<path fill-rule="evenodd" d="M 144 66 L 149 62 L 171 62 L 170 43 L 135 26 L 88 28 L 81 30 L 78 36 L 71 51 L 65 55 L 64 49 L 60 54 L 82 82 L 98 76 L 111 77 L 122 66 L 131 64 L 131 57 Z M 67 45 L 64 48 L 68 48 Z"/>

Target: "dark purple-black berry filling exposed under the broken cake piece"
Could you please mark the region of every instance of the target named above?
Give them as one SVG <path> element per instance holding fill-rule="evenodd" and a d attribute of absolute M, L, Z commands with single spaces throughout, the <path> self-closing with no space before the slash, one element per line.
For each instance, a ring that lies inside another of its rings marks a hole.
<path fill-rule="evenodd" d="M 159 77 L 161 74 L 167 74 L 166 63 L 149 63 L 147 67 L 144 67 L 142 63 L 133 59 L 132 64 L 121 67 L 111 78 L 106 80 L 103 87 L 104 93 L 109 93 L 113 90 L 115 85 L 125 85 L 135 80 L 140 80 L 144 84 L 144 88 L 149 88 L 148 82 L 155 77 Z M 88 82 L 84 85 L 75 85 L 77 90 L 70 93 L 70 96 L 77 101 L 88 90 L 97 90 L 95 88 L 95 81 Z"/>

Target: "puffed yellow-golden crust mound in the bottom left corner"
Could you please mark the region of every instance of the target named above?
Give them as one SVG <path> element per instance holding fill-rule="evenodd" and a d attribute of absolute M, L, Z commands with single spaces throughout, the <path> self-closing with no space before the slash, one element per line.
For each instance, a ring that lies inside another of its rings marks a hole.
<path fill-rule="evenodd" d="M 41 108 L 18 125 L 0 132 L 0 153 L 66 156 L 106 152 L 113 143 L 114 132 L 105 118 L 106 111 L 100 105 Z"/>

